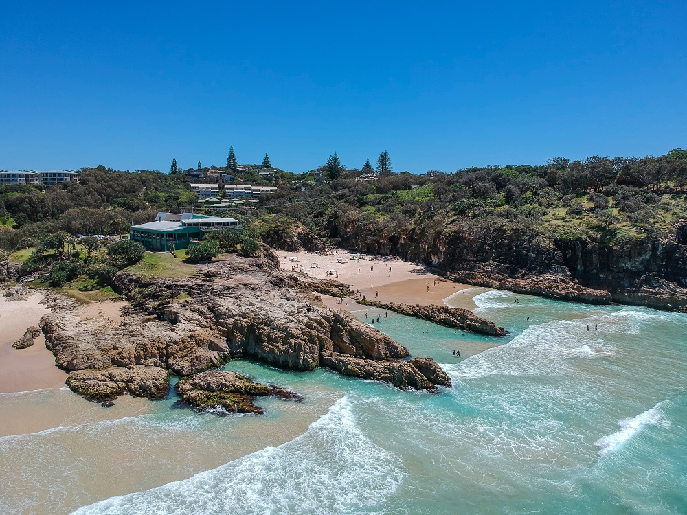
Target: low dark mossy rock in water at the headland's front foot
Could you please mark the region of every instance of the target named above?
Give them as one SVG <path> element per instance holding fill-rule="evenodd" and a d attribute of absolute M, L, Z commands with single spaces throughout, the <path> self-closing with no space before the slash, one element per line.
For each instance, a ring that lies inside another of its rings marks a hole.
<path fill-rule="evenodd" d="M 276 386 L 253 382 L 236 372 L 205 372 L 177 382 L 177 393 L 181 401 L 198 411 L 209 411 L 217 415 L 231 413 L 256 413 L 263 409 L 253 404 L 255 397 L 278 396 L 283 399 L 302 400 L 293 391 Z"/>

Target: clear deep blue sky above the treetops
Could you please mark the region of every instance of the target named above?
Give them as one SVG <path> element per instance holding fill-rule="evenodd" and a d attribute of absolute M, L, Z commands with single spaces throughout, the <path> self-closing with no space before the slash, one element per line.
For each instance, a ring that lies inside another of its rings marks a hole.
<path fill-rule="evenodd" d="M 3 5 L 0 169 L 687 148 L 684 1 L 103 4 Z"/>

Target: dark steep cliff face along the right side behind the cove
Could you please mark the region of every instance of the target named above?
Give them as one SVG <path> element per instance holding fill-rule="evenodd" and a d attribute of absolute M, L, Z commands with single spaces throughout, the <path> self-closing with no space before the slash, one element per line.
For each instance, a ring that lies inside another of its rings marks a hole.
<path fill-rule="evenodd" d="M 589 304 L 687 310 L 687 245 L 642 237 L 624 244 L 583 238 L 529 240 L 488 229 L 455 229 L 433 238 L 414 229 L 385 239 L 357 227 L 332 227 L 350 249 L 427 263 L 459 281 Z"/>

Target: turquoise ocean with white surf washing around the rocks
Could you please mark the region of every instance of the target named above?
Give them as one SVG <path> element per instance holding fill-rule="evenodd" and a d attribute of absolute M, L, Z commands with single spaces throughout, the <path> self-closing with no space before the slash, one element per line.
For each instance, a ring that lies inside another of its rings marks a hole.
<path fill-rule="evenodd" d="M 216 417 L 170 398 L 0 437 L 0 513 L 687 513 L 687 315 L 514 297 L 475 297 L 504 339 L 357 312 L 442 365 L 437 395 L 234 361 L 304 402 Z"/>

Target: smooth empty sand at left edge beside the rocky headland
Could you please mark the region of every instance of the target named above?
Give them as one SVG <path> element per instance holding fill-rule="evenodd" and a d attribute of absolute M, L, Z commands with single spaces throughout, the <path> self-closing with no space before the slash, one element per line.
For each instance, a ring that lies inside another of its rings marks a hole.
<path fill-rule="evenodd" d="M 43 334 L 34 338 L 32 347 L 12 348 L 26 328 L 38 325 L 41 317 L 50 312 L 39 304 L 42 300 L 41 293 L 34 293 L 25 301 L 0 298 L 0 392 L 65 386 L 67 374 L 55 366 L 52 352 L 45 348 Z"/>

